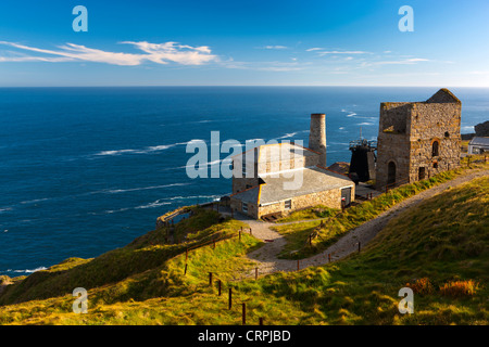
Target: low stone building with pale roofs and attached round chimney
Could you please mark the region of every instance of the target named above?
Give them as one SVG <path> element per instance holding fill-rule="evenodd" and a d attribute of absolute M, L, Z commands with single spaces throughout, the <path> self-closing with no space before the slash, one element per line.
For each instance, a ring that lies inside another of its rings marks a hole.
<path fill-rule="evenodd" d="M 309 147 L 260 145 L 235 156 L 233 170 L 230 207 L 256 219 L 317 205 L 341 208 L 354 200 L 350 178 L 326 168 L 324 114 L 311 115 Z"/>

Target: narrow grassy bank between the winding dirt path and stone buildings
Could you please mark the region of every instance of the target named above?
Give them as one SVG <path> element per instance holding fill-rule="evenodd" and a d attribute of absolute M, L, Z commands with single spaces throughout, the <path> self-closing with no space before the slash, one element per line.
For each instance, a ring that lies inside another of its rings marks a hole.
<path fill-rule="evenodd" d="M 466 160 L 463 165 L 466 166 Z M 474 160 L 474 157 L 472 158 Z M 487 164 L 473 164 L 472 169 L 487 168 Z M 388 210 L 396 204 L 411 197 L 424 190 L 432 188 L 443 182 L 448 182 L 455 177 L 465 172 L 471 172 L 472 169 L 465 167 L 444 171 L 438 174 L 429 179 L 404 184 L 399 188 L 390 190 L 387 194 L 381 194 L 372 201 L 364 202 L 360 205 L 346 209 L 342 214 L 337 214 L 335 217 L 324 219 L 324 228 L 317 231 L 317 237 L 312 240 L 309 244 L 309 235 L 319 226 L 319 221 L 308 221 L 303 223 L 293 223 L 286 226 L 273 227 L 274 230 L 285 235 L 287 245 L 280 253 L 279 257 L 284 259 L 303 259 L 312 255 L 318 254 L 337 242 L 348 231 L 369 221 Z M 298 211 L 297 215 L 291 214 L 290 220 L 298 218 L 317 218 L 314 213 L 316 209 Z"/>

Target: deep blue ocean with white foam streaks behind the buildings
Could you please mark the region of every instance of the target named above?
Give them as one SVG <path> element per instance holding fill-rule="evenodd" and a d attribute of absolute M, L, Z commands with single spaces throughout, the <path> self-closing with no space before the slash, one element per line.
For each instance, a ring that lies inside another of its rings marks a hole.
<path fill-rule="evenodd" d="M 224 178 L 189 179 L 186 143 L 303 140 L 326 113 L 328 165 L 375 139 L 379 103 L 437 88 L 155 87 L 0 89 L 0 274 L 121 247 L 178 206 L 228 194 Z M 489 90 L 454 88 L 462 132 L 489 117 Z M 227 154 L 223 154 L 224 158 Z M 211 159 L 210 159 L 211 162 Z M 215 164 L 214 164 L 215 165 Z M 218 165 L 218 164 L 217 164 Z"/>

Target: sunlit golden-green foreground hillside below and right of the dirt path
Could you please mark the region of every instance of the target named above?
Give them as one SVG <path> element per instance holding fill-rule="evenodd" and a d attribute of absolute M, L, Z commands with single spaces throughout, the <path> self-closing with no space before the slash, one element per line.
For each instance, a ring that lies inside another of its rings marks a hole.
<path fill-rule="evenodd" d="M 163 268 L 92 288 L 87 314 L 72 313 L 65 295 L 0 307 L 0 323 L 239 324 L 246 301 L 250 323 L 264 317 L 266 324 L 488 324 L 488 200 L 489 178 L 447 190 L 393 219 L 361 254 L 259 281 L 233 281 L 230 273 L 247 267 L 238 257 L 259 246 L 243 235 L 190 254 L 187 277 L 180 254 Z M 234 286 L 231 310 L 227 296 L 209 286 L 209 271 L 224 280 L 223 293 Z M 402 316 L 398 291 L 419 278 L 436 290 L 472 279 L 478 290 L 460 298 L 438 290 L 416 295 L 415 313 Z"/>

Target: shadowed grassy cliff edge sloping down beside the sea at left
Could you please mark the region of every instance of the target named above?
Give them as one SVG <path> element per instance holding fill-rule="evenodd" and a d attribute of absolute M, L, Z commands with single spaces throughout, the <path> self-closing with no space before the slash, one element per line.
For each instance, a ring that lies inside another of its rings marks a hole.
<path fill-rule="evenodd" d="M 166 243 L 166 230 L 158 229 L 97 258 L 66 259 L 8 286 L 0 295 L 0 305 L 61 296 L 72 293 L 75 287 L 90 290 L 118 283 L 145 271 L 160 269 L 168 259 L 185 254 L 188 247 L 234 236 L 246 226 L 237 220 L 220 222 L 220 219 L 216 211 L 196 209 L 193 217 L 175 226 L 175 234 L 187 236 L 185 243 Z"/>

